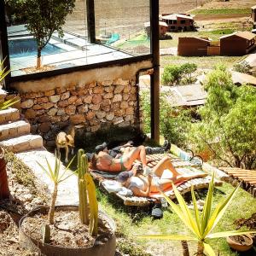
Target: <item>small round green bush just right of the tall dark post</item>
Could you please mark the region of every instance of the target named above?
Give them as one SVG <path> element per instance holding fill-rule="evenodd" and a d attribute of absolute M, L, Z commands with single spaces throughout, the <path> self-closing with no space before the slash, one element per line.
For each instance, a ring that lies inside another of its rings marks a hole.
<path fill-rule="evenodd" d="M 197 66 L 194 63 L 185 63 L 183 65 L 168 65 L 162 74 L 162 84 L 191 84 L 195 82 L 195 73 Z"/>

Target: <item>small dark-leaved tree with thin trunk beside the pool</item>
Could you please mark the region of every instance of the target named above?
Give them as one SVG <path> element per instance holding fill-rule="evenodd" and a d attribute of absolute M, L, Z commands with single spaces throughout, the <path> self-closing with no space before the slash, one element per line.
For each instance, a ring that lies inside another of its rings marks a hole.
<path fill-rule="evenodd" d="M 10 0 L 9 5 L 26 18 L 26 28 L 38 44 L 37 68 L 41 67 L 41 52 L 53 32 L 63 36 L 62 26 L 73 12 L 75 0 Z"/>

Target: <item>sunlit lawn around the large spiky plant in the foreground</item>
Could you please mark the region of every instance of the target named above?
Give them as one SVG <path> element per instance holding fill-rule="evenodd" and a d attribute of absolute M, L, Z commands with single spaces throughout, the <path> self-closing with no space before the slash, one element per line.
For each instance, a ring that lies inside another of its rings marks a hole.
<path fill-rule="evenodd" d="M 216 207 L 218 202 L 223 199 L 233 187 L 224 183 L 222 187 L 218 187 L 214 191 L 213 208 Z M 197 198 L 205 200 L 207 190 L 201 189 L 196 193 Z M 186 201 L 190 201 L 189 193 L 186 195 Z M 116 221 L 117 234 L 123 236 L 127 242 L 118 242 L 118 247 L 121 248 L 123 253 L 129 253 L 130 256 L 138 255 L 182 255 L 182 247 L 179 241 L 158 241 L 158 240 L 138 240 L 133 236 L 135 235 L 148 235 L 148 234 L 189 234 L 188 230 L 183 228 L 183 223 L 179 220 L 175 213 L 172 213 L 169 208 L 164 212 L 164 218 L 153 220 L 150 217 L 150 212 L 142 208 L 129 208 L 122 205 L 113 198 L 102 194 L 98 191 L 100 207 Z M 232 201 L 230 207 L 224 214 L 224 218 L 218 223 L 214 232 L 224 230 L 235 230 L 236 226 L 234 221 L 237 218 L 249 218 L 256 212 L 255 199 L 252 198 L 246 191 L 239 189 L 236 198 Z M 130 242 L 129 242 L 130 241 Z M 131 244 L 135 247 L 141 247 L 143 251 L 137 248 L 135 251 L 131 249 Z M 216 255 L 221 256 L 235 256 L 230 250 L 224 238 L 212 239 L 210 241 Z M 189 242 L 190 255 L 195 253 L 196 243 Z"/>

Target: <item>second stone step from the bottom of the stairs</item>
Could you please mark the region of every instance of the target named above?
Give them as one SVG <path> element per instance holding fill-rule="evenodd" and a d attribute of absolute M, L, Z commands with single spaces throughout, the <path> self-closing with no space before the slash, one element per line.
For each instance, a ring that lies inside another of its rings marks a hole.
<path fill-rule="evenodd" d="M 24 120 L 0 125 L 0 140 L 30 133 L 30 124 Z"/>

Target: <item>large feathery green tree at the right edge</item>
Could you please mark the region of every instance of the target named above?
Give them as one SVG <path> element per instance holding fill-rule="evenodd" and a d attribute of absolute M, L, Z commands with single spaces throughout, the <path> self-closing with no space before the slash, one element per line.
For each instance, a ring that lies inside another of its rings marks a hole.
<path fill-rule="evenodd" d="M 207 102 L 194 125 L 194 139 L 229 166 L 252 169 L 256 160 L 256 89 L 237 87 L 225 67 L 218 66 L 204 84 Z"/>

